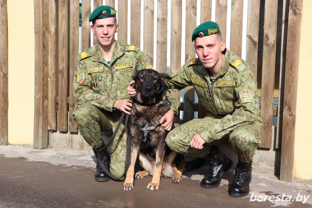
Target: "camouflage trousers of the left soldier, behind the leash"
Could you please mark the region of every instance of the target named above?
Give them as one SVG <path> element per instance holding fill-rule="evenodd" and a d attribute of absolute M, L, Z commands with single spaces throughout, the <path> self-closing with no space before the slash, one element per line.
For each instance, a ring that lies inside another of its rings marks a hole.
<path fill-rule="evenodd" d="M 86 103 L 78 106 L 76 111 L 73 112 L 73 117 L 85 141 L 92 148 L 98 148 L 103 144 L 101 131 L 115 131 L 121 113 L 119 110 L 115 110 L 113 113 L 101 110 L 95 105 Z M 110 149 L 110 172 L 115 177 L 121 177 L 124 173 L 126 139 L 127 135 L 123 121 Z M 123 178 L 120 180 L 123 180 Z"/>

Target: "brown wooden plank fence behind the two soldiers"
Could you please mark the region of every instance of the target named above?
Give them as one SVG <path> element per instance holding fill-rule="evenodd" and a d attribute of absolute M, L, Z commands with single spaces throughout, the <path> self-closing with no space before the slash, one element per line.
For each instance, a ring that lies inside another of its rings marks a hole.
<path fill-rule="evenodd" d="M 92 1 L 92 2 L 91 2 Z M 6 0 L 0 0 L 1 13 L 6 17 Z M 183 63 L 196 56 L 191 34 L 200 23 L 210 21 L 212 18 L 212 3 L 215 3 L 215 22 L 220 26 L 225 41 L 230 28 L 231 51 L 237 55 L 242 53 L 243 18 L 247 18 L 246 31 L 246 61 L 258 77 L 258 85 L 261 86 L 261 116 L 264 121 L 264 135 L 261 137 L 260 148 L 272 148 L 272 118 L 278 117 L 276 148 L 282 147 L 281 180 L 293 180 L 293 144 L 294 130 L 289 127 L 295 124 L 295 89 L 298 70 L 298 47 L 301 20 L 302 0 L 248 0 L 247 17 L 243 17 L 243 0 L 232 0 L 228 5 L 227 0 L 201 0 L 200 11 L 197 13 L 197 0 L 172 0 L 170 8 L 167 8 L 168 0 L 131 0 L 130 25 L 128 25 L 128 1 L 106 0 L 105 4 L 115 7 L 118 3 L 117 18 L 119 24 L 118 40 L 140 47 L 141 33 L 143 32 L 142 51 L 151 64 L 156 65 L 159 72 L 165 72 L 167 65 L 170 71 L 175 72 L 181 68 L 182 48 L 185 48 Z M 246 1 L 245 1 L 246 2 Z M 91 40 L 90 23 L 88 17 L 91 11 L 102 5 L 102 0 L 82 0 L 81 12 L 81 50 L 90 47 Z M 157 3 L 157 4 L 155 4 Z M 183 7 L 183 3 L 185 7 Z M 4 6 L 3 6 L 4 4 Z M 90 9 L 93 4 L 93 8 Z M 141 10 L 143 4 L 144 11 Z M 156 8 L 157 13 L 154 14 Z M 245 4 L 246 5 L 246 4 Z M 77 107 L 73 98 L 72 82 L 76 70 L 76 56 L 79 53 L 79 0 L 34 0 L 35 11 L 35 122 L 34 122 L 34 148 L 45 148 L 48 145 L 48 130 L 60 132 L 77 132 L 77 125 L 72 118 L 72 112 Z M 227 11 L 230 7 L 231 23 L 227 27 Z M 185 22 L 182 22 L 182 14 L 185 11 Z M 279 11 L 282 11 L 279 12 Z M 262 13 L 261 13 L 262 12 Z M 144 16 L 143 27 L 141 17 Z M 157 17 L 157 27 L 154 28 L 154 15 Z M 279 16 L 278 16 L 279 15 Z M 5 17 L 1 17 L 0 25 L 6 25 Z M 170 45 L 167 45 L 167 24 L 170 17 Z M 295 27 L 288 28 L 288 19 Z M 278 22 L 279 20 L 279 22 Z M 185 32 L 182 26 L 185 24 Z M 131 28 L 128 33 L 128 27 Z M 5 28 L 0 33 L 0 46 L 7 49 L 7 36 Z M 277 36 L 277 28 L 281 28 Z M 154 41 L 154 31 L 156 39 Z M 185 33 L 185 34 L 184 34 Z M 291 34 L 291 36 L 287 36 Z M 182 47 L 182 34 L 185 35 L 185 45 Z M 280 39 L 277 47 L 277 39 Z M 173 41 L 174 40 L 174 41 Z M 154 45 L 156 42 L 156 45 Z M 6 46 L 6 47 L 5 47 Z M 157 55 L 154 56 L 154 47 Z M 167 49 L 170 48 L 170 63 L 167 63 Z M 276 53 L 279 48 L 279 53 Z M 245 50 L 245 49 L 243 49 Z M 0 52 L 5 54 L 5 50 Z M 1 56 L 1 92 L 7 95 L 7 60 L 2 61 Z M 284 57 L 284 58 L 283 58 Z M 287 67 L 286 67 L 286 59 Z M 297 58 L 297 59 L 296 59 Z M 155 61 L 156 60 L 156 61 Z M 280 95 L 279 106 L 273 106 L 275 70 L 280 71 Z M 290 77 L 291 75 L 291 77 Z M 284 81 L 285 79 L 285 81 Z M 290 80 L 293 81 L 290 83 Z M 285 85 L 284 85 L 285 84 Z M 285 89 L 284 89 L 284 86 Z M 284 95 L 284 91 L 287 94 Z M 180 100 L 180 92 L 173 92 L 173 96 Z M 285 97 L 285 98 L 284 98 Z M 0 102 L 1 112 L 7 112 L 7 97 L 2 96 Z M 198 118 L 202 118 L 205 109 L 201 103 L 195 103 L 193 87 L 184 89 L 184 101 L 180 104 L 183 110 L 183 119 L 178 117 L 175 124 L 187 122 L 194 118 L 194 112 L 198 111 Z M 287 101 L 287 102 L 285 102 Z M 283 112 L 283 109 L 286 109 Z M 1 141 L 7 141 L 7 114 L 0 119 Z M 6 119 L 6 120 L 5 120 Z M 285 122 L 285 123 L 284 123 Z M 283 140 L 281 140 L 283 134 Z M 285 138 L 285 139 L 284 139 Z M 284 140 L 286 143 L 284 143 Z M 281 145 L 283 144 L 283 145 Z M 284 161 L 283 161 L 284 159 Z"/>

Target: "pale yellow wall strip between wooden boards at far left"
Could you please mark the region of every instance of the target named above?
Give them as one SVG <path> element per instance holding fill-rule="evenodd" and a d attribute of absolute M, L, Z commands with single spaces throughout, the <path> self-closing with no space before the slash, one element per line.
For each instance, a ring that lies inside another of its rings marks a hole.
<path fill-rule="evenodd" d="M 34 2 L 7 1 L 8 143 L 33 144 Z"/>

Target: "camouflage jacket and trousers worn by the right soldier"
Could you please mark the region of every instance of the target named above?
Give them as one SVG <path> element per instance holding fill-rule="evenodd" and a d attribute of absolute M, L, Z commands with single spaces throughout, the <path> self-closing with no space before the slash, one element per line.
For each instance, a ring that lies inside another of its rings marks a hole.
<path fill-rule="evenodd" d="M 173 129 L 168 146 L 185 155 L 206 157 L 210 146 L 231 145 L 241 162 L 248 163 L 259 145 L 262 119 L 257 83 L 250 66 L 225 49 L 222 65 L 212 88 L 208 70 L 198 58 L 172 74 L 166 87 L 178 91 L 193 85 L 198 99 L 208 110 L 205 118 L 193 119 Z M 193 149 L 190 141 L 199 133 L 206 141 L 203 149 Z"/>

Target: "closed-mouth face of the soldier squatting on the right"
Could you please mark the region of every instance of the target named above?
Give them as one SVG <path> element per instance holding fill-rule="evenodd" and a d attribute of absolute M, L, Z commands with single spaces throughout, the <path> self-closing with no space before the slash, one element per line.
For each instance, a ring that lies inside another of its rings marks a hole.
<path fill-rule="evenodd" d="M 225 42 L 220 42 L 217 35 L 210 35 L 197 37 L 194 46 L 202 65 L 211 72 L 218 72 L 222 65 L 222 51 L 225 49 Z"/>

